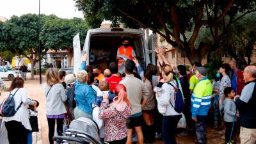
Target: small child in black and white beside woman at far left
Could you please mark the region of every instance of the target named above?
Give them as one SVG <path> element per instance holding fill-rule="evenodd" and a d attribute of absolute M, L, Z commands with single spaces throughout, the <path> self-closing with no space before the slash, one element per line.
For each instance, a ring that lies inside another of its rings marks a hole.
<path fill-rule="evenodd" d="M 32 144 L 33 143 L 33 138 L 32 138 L 32 132 L 38 132 L 38 106 L 39 106 L 39 102 L 37 100 L 36 101 L 36 106 L 31 106 L 29 105 L 28 107 L 28 113 L 29 113 L 29 122 L 31 125 L 32 130 L 30 132 L 28 132 L 28 144 Z"/>

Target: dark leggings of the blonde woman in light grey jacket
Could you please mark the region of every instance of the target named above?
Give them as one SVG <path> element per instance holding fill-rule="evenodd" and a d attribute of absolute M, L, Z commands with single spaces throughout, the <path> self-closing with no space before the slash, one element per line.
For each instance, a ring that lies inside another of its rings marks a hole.
<path fill-rule="evenodd" d="M 57 130 L 58 130 L 57 134 L 59 136 L 63 135 L 62 132 L 63 132 L 63 120 L 64 120 L 64 118 L 47 118 L 48 127 L 49 127 L 48 138 L 49 138 L 49 143 L 50 144 L 53 144 L 55 120 L 57 120 Z"/>

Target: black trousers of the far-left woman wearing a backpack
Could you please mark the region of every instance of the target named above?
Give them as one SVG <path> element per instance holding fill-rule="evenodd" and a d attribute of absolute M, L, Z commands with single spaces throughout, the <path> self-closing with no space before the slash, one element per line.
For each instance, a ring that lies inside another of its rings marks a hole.
<path fill-rule="evenodd" d="M 28 144 L 28 129 L 15 120 L 5 122 L 10 144 Z"/>

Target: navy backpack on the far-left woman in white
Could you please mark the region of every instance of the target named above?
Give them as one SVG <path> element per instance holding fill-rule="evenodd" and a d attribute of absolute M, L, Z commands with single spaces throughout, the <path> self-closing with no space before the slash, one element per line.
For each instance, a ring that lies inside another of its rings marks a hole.
<path fill-rule="evenodd" d="M 13 116 L 19 110 L 22 104 L 22 101 L 20 102 L 20 105 L 18 106 L 18 108 L 15 109 L 15 101 L 13 98 L 19 89 L 20 88 L 18 88 L 14 94 L 10 92 L 9 96 L 6 97 L 6 99 L 4 99 L 3 102 L 0 104 L 0 116 L 3 116 L 3 117 Z"/>

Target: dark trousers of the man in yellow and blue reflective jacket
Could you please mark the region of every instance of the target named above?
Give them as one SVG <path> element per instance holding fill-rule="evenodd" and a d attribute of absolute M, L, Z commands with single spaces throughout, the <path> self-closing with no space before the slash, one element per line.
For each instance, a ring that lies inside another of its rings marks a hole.
<path fill-rule="evenodd" d="M 196 138 L 198 143 L 206 144 L 206 127 L 205 127 L 205 120 L 206 116 L 196 116 L 197 121 L 195 122 L 196 128 Z"/>

